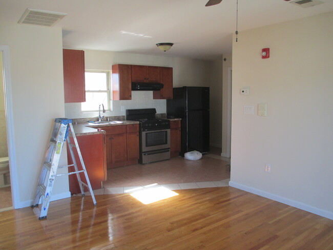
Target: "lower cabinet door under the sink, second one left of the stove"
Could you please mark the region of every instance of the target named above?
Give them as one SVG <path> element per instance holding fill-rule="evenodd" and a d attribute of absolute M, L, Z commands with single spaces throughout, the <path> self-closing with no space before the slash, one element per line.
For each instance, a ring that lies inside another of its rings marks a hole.
<path fill-rule="evenodd" d="M 127 141 L 126 134 L 111 135 L 112 163 L 127 160 Z"/>

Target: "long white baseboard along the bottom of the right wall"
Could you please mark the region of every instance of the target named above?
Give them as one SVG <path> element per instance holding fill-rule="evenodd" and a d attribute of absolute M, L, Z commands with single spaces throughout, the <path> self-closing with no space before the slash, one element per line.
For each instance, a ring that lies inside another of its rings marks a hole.
<path fill-rule="evenodd" d="M 332 212 L 322 210 L 322 209 L 318 209 L 317 207 L 310 206 L 310 205 L 307 205 L 307 204 L 304 204 L 304 203 L 301 203 L 301 202 L 298 202 L 298 201 L 295 201 L 295 200 L 290 200 L 288 198 L 285 198 L 285 197 L 282 197 L 282 196 L 279 196 L 279 195 L 270 194 L 270 193 L 267 193 L 265 191 L 252 188 L 251 186 L 246 186 L 246 185 L 243 185 L 243 184 L 239 184 L 237 182 L 229 181 L 229 185 L 232 186 L 233 188 L 240 189 L 240 190 L 252 193 L 252 194 L 256 194 L 256 195 L 268 198 L 270 200 L 275 200 L 275 201 L 284 203 L 284 204 L 289 205 L 289 206 L 294 206 L 297 209 L 301 209 L 301 210 L 304 210 L 304 211 L 307 211 L 307 212 L 310 212 L 310 213 L 313 213 L 313 214 L 316 214 L 316 215 L 320 215 L 322 217 L 333 220 L 333 213 Z"/>

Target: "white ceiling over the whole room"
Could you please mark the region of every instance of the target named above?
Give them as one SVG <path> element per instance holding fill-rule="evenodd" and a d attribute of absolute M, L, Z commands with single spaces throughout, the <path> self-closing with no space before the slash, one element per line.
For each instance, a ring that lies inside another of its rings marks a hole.
<path fill-rule="evenodd" d="M 204 6 L 206 2 L 0 0 L 0 20 L 17 23 L 27 8 L 63 12 L 67 16 L 55 27 L 63 29 L 64 48 L 215 60 L 232 51 L 236 0 L 210 7 Z M 333 11 L 333 0 L 321 0 L 324 4 L 309 8 L 290 2 L 239 0 L 238 41 L 243 30 Z M 155 45 L 165 42 L 174 43 L 166 52 Z"/>

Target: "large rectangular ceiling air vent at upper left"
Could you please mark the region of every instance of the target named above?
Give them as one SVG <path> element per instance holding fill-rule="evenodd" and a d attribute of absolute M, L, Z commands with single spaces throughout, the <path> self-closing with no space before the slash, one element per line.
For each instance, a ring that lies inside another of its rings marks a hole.
<path fill-rule="evenodd" d="M 66 15 L 66 13 L 27 9 L 18 23 L 52 27 Z"/>

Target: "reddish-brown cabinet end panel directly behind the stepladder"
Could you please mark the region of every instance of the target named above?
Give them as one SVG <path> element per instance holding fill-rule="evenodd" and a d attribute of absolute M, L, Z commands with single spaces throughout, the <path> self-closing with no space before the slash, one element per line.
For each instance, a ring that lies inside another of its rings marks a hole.
<path fill-rule="evenodd" d="M 102 188 L 102 181 L 107 180 L 106 169 L 106 148 L 105 138 L 103 134 L 76 136 L 82 159 L 84 160 L 90 184 L 93 190 Z M 73 139 L 71 138 L 71 142 Z M 66 143 L 67 144 L 67 143 Z M 76 149 L 73 149 L 75 161 L 79 170 L 82 170 L 81 162 Z M 67 144 L 67 159 L 68 164 L 73 164 L 73 159 Z M 69 172 L 74 172 L 74 166 L 69 167 Z M 69 189 L 71 194 L 81 193 L 80 187 L 75 174 L 69 175 Z M 80 173 L 80 178 L 86 182 L 84 173 Z M 85 188 L 85 192 L 88 189 Z"/>

